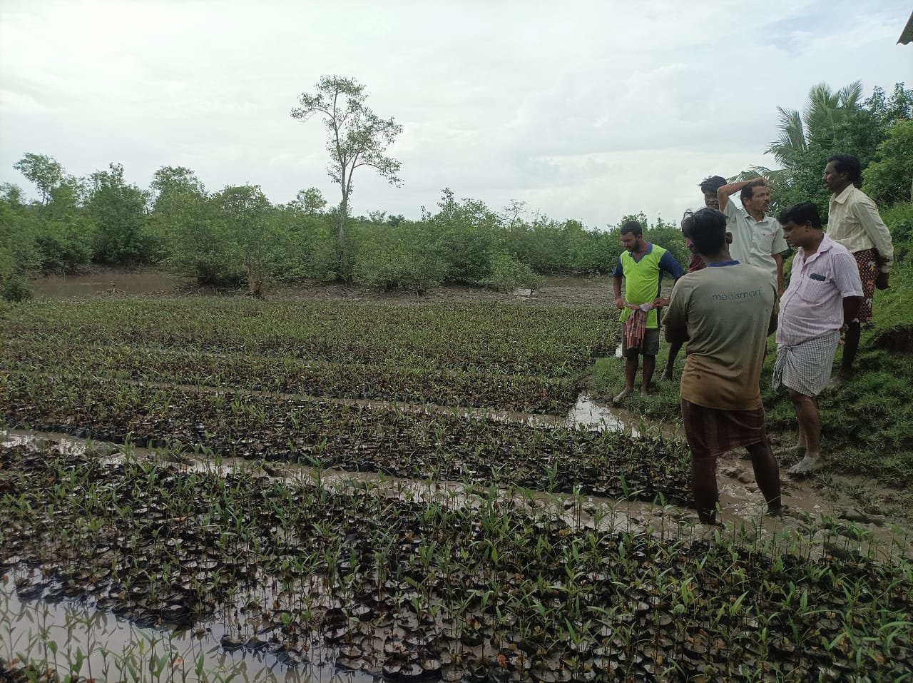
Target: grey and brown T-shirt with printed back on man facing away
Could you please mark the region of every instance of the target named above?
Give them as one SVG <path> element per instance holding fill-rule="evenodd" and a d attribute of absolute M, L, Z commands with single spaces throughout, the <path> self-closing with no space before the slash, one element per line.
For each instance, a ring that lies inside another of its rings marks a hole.
<path fill-rule="evenodd" d="M 748 264 L 714 264 L 678 281 L 666 324 L 682 317 L 687 324 L 683 399 L 725 410 L 761 403 L 761 363 L 775 301 L 770 275 Z"/>

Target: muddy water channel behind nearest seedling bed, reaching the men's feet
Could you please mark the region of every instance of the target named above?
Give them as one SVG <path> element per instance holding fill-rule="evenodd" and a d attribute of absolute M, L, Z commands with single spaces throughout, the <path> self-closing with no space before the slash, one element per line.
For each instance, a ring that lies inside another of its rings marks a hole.
<path fill-rule="evenodd" d="M 604 423 L 600 423 L 603 425 Z M 114 444 L 87 442 L 84 439 L 60 434 L 36 435 L 22 430 L 0 431 L 0 442 L 23 444 L 44 439 L 56 444 L 62 452 L 79 452 L 87 447 L 107 450 L 111 463 L 126 457 L 123 447 Z M 154 449 L 130 447 L 132 457 L 154 458 L 174 463 L 174 454 Z M 262 467 L 263 476 L 281 478 L 289 483 L 320 484 L 328 489 L 371 489 L 391 498 L 414 502 L 436 502 L 449 508 L 480 507 L 489 495 L 488 490 L 453 481 L 419 481 L 395 478 L 373 472 L 345 472 L 312 468 L 297 463 L 268 463 L 257 465 L 243 458 L 219 457 L 194 459 L 181 457 L 182 468 L 224 476 L 237 468 Z M 803 480 L 782 478 L 782 500 L 789 510 L 782 518 L 768 518 L 766 504 L 754 482 L 750 460 L 732 453 L 718 462 L 720 520 L 733 533 L 750 530 L 755 537 L 774 537 L 787 533 L 802 544 L 815 546 L 811 554 L 820 555 L 832 550 L 834 543 L 844 550 L 888 558 L 913 556 L 913 533 L 887 523 L 883 518 L 854 520 L 845 508 L 824 500 Z M 656 505 L 636 500 L 618 500 L 598 496 L 572 496 L 542 491 L 496 489 L 499 501 L 509 502 L 517 509 L 555 514 L 572 527 L 596 528 L 600 531 L 651 531 L 663 538 L 690 537 L 698 525 L 697 514 L 676 505 Z M 847 518 L 850 519 L 847 519 Z"/>

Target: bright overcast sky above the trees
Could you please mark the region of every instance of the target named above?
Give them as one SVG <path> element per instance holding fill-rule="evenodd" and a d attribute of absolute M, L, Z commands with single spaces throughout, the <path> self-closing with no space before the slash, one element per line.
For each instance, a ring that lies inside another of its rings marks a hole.
<path fill-rule="evenodd" d="M 417 218 L 441 189 L 614 224 L 676 218 L 698 182 L 774 165 L 777 105 L 824 81 L 913 82 L 907 1 L 46 2 L 0 0 L 0 182 L 49 154 L 78 176 L 163 165 L 273 203 L 320 188 L 326 131 L 289 110 L 324 75 L 404 131 L 401 187 L 355 173 L 352 210 Z M 852 152 L 851 150 L 848 152 Z"/>

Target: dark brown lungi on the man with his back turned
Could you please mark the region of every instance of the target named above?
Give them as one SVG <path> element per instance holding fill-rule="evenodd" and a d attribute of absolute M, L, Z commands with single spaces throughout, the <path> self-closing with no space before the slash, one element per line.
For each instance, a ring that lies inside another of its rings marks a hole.
<path fill-rule="evenodd" d="M 694 457 L 719 456 L 767 437 L 764 405 L 751 410 L 705 408 L 682 399 L 682 425 Z"/>

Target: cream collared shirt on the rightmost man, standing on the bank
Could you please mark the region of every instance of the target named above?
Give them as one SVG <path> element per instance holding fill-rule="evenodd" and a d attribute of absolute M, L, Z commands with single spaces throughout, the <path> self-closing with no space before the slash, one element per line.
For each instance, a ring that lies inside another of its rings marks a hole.
<path fill-rule="evenodd" d="M 891 233 L 878 215 L 878 207 L 866 193 L 848 186 L 840 194 L 832 194 L 827 205 L 827 234 L 838 244 L 857 251 L 876 248 L 883 260 L 881 272 L 891 272 L 894 245 Z"/>

